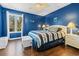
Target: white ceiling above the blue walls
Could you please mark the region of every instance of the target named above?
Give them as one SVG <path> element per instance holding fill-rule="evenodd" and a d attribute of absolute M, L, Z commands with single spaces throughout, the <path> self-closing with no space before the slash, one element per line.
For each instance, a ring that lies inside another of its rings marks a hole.
<path fill-rule="evenodd" d="M 47 15 L 51 12 L 54 12 L 64 6 L 69 5 L 70 3 L 42 3 L 46 4 L 46 6 L 42 7 L 41 9 L 36 9 L 36 3 L 1 3 L 3 7 L 15 9 L 19 11 L 24 11 L 36 15 Z"/>

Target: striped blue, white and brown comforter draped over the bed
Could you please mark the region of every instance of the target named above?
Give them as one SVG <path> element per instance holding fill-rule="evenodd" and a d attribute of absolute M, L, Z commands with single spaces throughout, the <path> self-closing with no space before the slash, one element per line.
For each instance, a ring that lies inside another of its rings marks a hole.
<path fill-rule="evenodd" d="M 29 36 L 37 42 L 37 47 L 39 48 L 42 44 L 60 39 L 65 36 L 65 32 L 59 31 L 57 33 L 50 31 L 31 31 L 28 33 Z"/>

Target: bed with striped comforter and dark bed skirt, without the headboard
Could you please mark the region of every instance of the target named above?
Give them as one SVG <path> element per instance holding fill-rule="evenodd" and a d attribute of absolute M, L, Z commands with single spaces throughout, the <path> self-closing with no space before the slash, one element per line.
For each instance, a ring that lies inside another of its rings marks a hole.
<path fill-rule="evenodd" d="M 30 31 L 28 36 L 32 38 L 32 45 L 35 50 L 43 51 L 64 43 L 66 32 L 50 30 Z"/>

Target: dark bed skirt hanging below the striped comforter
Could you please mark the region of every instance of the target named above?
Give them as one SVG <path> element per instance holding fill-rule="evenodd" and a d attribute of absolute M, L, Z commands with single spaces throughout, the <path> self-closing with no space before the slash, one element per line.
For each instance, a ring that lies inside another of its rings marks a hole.
<path fill-rule="evenodd" d="M 58 40 L 51 41 L 49 43 L 43 44 L 43 45 L 41 45 L 40 48 L 37 48 L 37 46 L 36 46 L 37 43 L 33 40 L 32 41 L 32 44 L 33 44 L 32 48 L 34 50 L 36 50 L 36 51 L 45 51 L 45 50 L 48 50 L 50 48 L 56 47 L 56 46 L 64 44 L 64 43 L 65 43 L 64 38 L 61 38 L 61 39 L 58 39 Z"/>

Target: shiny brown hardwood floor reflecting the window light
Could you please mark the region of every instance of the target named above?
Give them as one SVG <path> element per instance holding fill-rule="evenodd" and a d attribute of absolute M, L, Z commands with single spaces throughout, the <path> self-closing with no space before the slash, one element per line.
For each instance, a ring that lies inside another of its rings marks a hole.
<path fill-rule="evenodd" d="M 64 45 L 37 52 L 32 48 L 23 49 L 21 40 L 9 41 L 6 49 L 0 50 L 0 56 L 79 56 L 79 49 Z"/>

